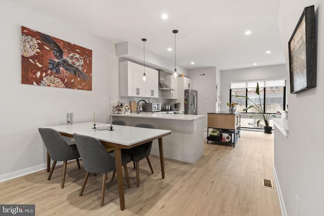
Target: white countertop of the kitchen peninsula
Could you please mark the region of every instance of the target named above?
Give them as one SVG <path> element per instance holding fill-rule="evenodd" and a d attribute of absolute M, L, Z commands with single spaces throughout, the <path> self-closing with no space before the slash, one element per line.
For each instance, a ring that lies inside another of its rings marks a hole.
<path fill-rule="evenodd" d="M 175 119 L 175 120 L 194 120 L 198 118 L 204 118 L 204 115 L 186 115 L 186 114 L 168 114 L 162 112 L 141 112 L 126 113 L 126 114 L 112 114 L 113 116 L 125 116 L 125 117 L 140 117 L 140 118 L 160 118 L 160 119 Z"/>

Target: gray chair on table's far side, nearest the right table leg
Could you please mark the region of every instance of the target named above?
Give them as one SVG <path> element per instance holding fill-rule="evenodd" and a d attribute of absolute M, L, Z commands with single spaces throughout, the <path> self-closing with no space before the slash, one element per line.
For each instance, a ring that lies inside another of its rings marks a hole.
<path fill-rule="evenodd" d="M 147 123 L 139 123 L 139 124 L 136 124 L 135 126 L 155 129 L 154 125 L 147 124 Z M 151 153 L 151 148 L 152 148 L 152 141 L 150 141 L 148 143 L 144 143 L 139 146 L 136 146 L 131 149 L 121 149 L 121 152 L 123 152 L 125 154 L 129 154 L 132 157 L 132 160 L 134 162 L 134 168 L 136 168 L 136 185 L 137 185 L 137 187 L 140 186 L 140 180 L 139 180 L 139 161 L 140 160 L 146 158 L 147 163 L 150 166 L 152 174 L 154 173 L 150 159 L 148 157 Z"/>

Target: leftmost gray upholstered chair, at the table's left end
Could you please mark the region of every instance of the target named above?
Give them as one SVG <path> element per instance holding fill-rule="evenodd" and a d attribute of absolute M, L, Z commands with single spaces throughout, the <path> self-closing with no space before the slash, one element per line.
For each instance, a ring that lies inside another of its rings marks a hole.
<path fill-rule="evenodd" d="M 76 159 L 77 166 L 80 168 L 79 163 L 79 152 L 77 151 L 76 145 L 69 145 L 61 137 L 61 135 L 52 128 L 38 128 L 39 134 L 43 139 L 47 152 L 53 159 L 51 171 L 47 180 L 50 180 L 56 165 L 56 161 L 63 161 L 63 174 L 61 181 L 61 188 L 64 188 L 66 164 L 68 160 Z"/>

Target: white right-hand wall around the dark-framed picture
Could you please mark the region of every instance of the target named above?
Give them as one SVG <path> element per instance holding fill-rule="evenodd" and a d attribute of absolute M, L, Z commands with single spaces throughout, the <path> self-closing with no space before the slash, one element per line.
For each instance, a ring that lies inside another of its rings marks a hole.
<path fill-rule="evenodd" d="M 289 96 L 289 137 L 274 144 L 274 167 L 287 215 L 323 215 L 324 212 L 323 117 L 320 113 L 324 105 L 324 3 L 281 0 L 278 24 L 289 68 L 288 41 L 304 7 L 311 5 L 315 5 L 317 24 L 317 87 Z"/>

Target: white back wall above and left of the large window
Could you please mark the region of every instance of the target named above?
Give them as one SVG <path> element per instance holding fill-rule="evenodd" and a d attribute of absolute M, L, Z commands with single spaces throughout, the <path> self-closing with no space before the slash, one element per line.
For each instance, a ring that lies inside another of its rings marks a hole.
<path fill-rule="evenodd" d="M 288 78 L 286 65 L 272 65 L 221 71 L 221 111 L 227 111 L 229 102 L 229 82 Z M 287 91 L 288 93 L 290 91 Z M 288 96 L 289 97 L 289 96 Z"/>

